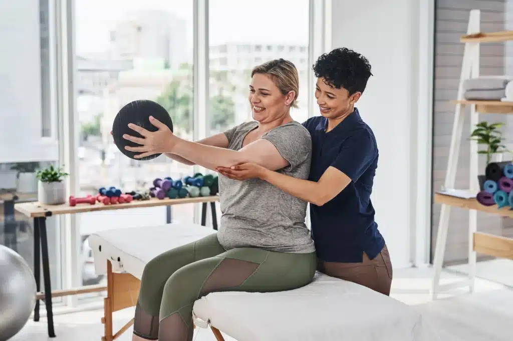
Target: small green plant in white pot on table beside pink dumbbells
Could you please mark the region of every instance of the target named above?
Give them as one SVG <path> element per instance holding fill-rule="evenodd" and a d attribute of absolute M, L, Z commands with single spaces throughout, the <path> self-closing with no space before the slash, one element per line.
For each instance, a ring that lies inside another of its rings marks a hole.
<path fill-rule="evenodd" d="M 68 173 L 58 167 L 37 172 L 37 200 L 44 205 L 58 205 L 66 202 L 66 183 L 63 181 Z"/>

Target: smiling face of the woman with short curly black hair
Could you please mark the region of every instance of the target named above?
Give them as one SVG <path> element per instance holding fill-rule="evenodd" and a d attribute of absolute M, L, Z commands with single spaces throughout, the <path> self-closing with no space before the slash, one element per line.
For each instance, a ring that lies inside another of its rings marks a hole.
<path fill-rule="evenodd" d="M 349 95 L 349 91 L 341 87 L 326 84 L 323 77 L 317 78 L 315 84 L 315 98 L 321 115 L 326 118 L 343 118 L 354 110 L 354 104 L 358 101 L 361 92 L 355 92 Z"/>

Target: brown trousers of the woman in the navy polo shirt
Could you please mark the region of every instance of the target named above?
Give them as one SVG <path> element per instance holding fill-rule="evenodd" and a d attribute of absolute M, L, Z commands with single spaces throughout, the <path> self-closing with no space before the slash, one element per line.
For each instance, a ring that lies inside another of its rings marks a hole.
<path fill-rule="evenodd" d="M 384 295 L 390 295 L 392 264 L 386 245 L 374 259 L 369 259 L 365 252 L 362 263 L 324 262 L 319 259 L 317 269 L 328 276 L 345 279 Z"/>

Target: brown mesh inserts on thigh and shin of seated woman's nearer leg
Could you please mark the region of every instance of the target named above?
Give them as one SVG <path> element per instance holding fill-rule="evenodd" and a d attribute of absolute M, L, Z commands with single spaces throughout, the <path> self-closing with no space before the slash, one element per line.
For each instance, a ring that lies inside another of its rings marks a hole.
<path fill-rule="evenodd" d="M 201 288 L 199 297 L 191 297 L 187 316 L 184 311 L 164 318 L 160 323 L 159 341 L 191 341 L 192 340 L 192 303 L 202 296 L 215 291 L 238 287 L 259 267 L 258 263 L 245 260 L 224 258 L 220 265 L 210 274 Z"/>

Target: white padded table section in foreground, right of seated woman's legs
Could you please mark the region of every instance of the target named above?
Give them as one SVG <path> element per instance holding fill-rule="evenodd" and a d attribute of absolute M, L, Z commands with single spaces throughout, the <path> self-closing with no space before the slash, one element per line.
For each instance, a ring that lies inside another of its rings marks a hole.
<path fill-rule="evenodd" d="M 194 319 L 240 341 L 438 341 L 424 317 L 366 287 L 317 273 L 303 288 L 216 292 L 194 304 Z"/>

